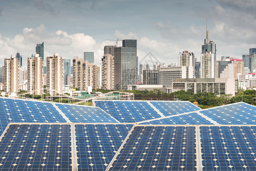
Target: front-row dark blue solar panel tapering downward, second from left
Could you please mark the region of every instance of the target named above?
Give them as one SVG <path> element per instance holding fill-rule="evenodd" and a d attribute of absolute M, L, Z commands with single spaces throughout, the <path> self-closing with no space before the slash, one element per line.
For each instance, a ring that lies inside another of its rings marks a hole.
<path fill-rule="evenodd" d="M 105 170 L 133 124 L 75 124 L 78 170 Z"/>

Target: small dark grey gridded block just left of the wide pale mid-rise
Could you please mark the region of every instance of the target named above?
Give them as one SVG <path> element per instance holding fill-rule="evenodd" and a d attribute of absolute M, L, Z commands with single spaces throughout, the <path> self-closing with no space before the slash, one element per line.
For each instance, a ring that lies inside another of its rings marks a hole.
<path fill-rule="evenodd" d="M 143 70 L 143 84 L 159 84 L 159 70 Z"/>

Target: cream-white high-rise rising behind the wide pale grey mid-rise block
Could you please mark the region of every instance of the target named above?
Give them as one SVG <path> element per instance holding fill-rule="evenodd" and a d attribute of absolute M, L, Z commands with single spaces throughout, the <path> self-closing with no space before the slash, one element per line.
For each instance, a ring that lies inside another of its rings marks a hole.
<path fill-rule="evenodd" d="M 178 54 L 178 65 L 186 67 L 188 70 L 188 78 L 194 78 L 194 53 L 183 51 Z"/>

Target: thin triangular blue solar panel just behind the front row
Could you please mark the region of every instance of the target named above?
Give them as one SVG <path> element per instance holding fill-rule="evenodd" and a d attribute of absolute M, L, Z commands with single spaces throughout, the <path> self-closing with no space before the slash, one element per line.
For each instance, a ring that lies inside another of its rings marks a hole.
<path fill-rule="evenodd" d="M 157 125 L 157 124 L 168 124 L 168 125 L 212 125 L 209 120 L 205 119 L 201 115 L 198 115 L 196 112 L 192 113 L 184 113 L 178 116 L 168 116 L 164 117 L 162 119 L 154 119 L 151 121 L 143 121 L 139 124 L 151 124 L 151 125 Z"/>

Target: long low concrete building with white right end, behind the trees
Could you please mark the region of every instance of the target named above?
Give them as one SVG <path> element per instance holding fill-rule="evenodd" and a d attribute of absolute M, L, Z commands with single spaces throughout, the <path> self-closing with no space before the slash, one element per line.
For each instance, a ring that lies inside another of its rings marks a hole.
<path fill-rule="evenodd" d="M 216 95 L 235 95 L 234 78 L 216 79 L 174 79 L 172 87 L 167 88 L 168 93 L 179 90 L 191 91 L 193 93 L 213 92 Z"/>

